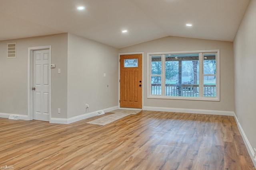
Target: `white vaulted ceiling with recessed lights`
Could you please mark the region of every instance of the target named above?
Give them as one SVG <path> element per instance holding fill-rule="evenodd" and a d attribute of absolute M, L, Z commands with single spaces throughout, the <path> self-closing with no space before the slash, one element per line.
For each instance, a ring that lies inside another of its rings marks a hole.
<path fill-rule="evenodd" d="M 116 48 L 166 36 L 233 41 L 249 2 L 0 0 L 0 40 L 69 32 Z"/>

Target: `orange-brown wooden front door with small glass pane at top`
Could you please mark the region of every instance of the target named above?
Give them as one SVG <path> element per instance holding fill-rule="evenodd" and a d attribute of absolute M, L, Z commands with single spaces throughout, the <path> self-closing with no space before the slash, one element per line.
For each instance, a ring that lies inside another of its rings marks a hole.
<path fill-rule="evenodd" d="M 120 55 L 120 107 L 142 108 L 142 54 Z"/>

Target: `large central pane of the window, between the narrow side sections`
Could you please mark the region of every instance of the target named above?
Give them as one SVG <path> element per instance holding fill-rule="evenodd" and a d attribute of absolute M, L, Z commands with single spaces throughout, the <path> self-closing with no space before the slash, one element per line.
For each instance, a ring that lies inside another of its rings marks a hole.
<path fill-rule="evenodd" d="M 199 96 L 199 53 L 165 55 L 165 95 Z"/>

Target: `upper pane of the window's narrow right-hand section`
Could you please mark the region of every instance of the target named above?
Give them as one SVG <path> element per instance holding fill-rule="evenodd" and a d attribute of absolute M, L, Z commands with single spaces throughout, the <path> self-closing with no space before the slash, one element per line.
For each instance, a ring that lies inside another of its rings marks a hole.
<path fill-rule="evenodd" d="M 216 54 L 204 54 L 204 74 L 216 74 Z"/>

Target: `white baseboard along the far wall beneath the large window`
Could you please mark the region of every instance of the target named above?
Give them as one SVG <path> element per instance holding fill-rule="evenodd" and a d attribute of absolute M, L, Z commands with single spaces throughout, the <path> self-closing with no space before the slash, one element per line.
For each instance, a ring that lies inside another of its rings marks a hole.
<path fill-rule="evenodd" d="M 150 107 L 150 106 L 144 106 L 143 110 L 169 111 L 169 112 L 180 112 L 180 113 L 198 113 L 198 114 L 207 114 L 207 115 L 234 116 L 234 111 L 218 111 L 218 110 L 202 110 L 202 109 L 182 109 L 182 108 Z"/>

